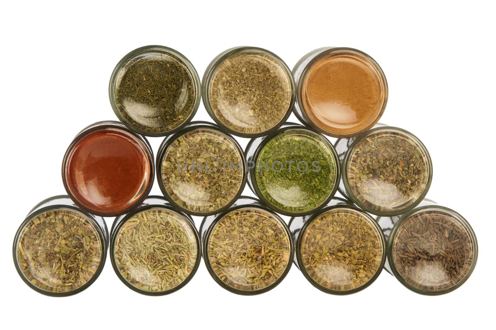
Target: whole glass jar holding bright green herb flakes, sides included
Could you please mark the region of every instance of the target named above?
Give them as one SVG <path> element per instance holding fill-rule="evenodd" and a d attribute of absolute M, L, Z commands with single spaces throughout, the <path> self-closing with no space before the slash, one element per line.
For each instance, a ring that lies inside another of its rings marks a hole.
<path fill-rule="evenodd" d="M 287 123 L 246 148 L 248 185 L 277 213 L 303 216 L 334 196 L 340 165 L 336 150 L 321 134 Z"/>

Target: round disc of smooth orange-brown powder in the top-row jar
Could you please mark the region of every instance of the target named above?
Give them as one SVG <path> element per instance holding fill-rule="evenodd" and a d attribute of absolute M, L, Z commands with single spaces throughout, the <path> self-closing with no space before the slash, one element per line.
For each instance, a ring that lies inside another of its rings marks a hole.
<path fill-rule="evenodd" d="M 317 60 L 302 85 L 303 108 L 310 120 L 331 136 L 372 127 L 385 102 L 380 74 L 365 57 L 348 52 Z"/>

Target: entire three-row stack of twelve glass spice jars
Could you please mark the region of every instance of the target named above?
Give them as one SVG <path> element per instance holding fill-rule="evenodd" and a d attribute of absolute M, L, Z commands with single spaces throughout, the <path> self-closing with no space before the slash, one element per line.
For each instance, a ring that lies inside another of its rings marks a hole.
<path fill-rule="evenodd" d="M 244 295 L 274 288 L 292 262 L 332 294 L 366 288 L 383 268 L 442 294 L 475 267 L 468 222 L 425 198 L 427 148 L 377 124 L 387 82 L 360 50 L 316 49 L 292 73 L 268 50 L 235 47 L 200 85 L 181 53 L 141 47 L 117 64 L 109 96 L 120 122 L 74 138 L 67 195 L 35 206 L 14 238 L 15 267 L 38 292 L 84 290 L 107 247 L 119 279 L 147 295 L 186 285 L 201 256 L 214 281 Z M 200 98 L 215 124 L 191 122 Z M 303 125 L 287 122 L 291 111 Z M 233 135 L 251 138 L 246 150 Z M 165 137 L 156 159 L 144 136 Z M 163 196 L 148 196 L 155 175 Z M 247 183 L 258 199 L 241 196 Z M 204 217 L 199 232 L 191 216 Z M 102 217 L 116 217 L 110 235 Z"/>

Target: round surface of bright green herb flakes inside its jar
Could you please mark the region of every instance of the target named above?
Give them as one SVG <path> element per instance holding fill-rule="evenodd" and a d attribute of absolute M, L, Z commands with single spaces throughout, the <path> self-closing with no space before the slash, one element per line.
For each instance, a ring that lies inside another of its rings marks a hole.
<path fill-rule="evenodd" d="M 331 147 L 308 131 L 290 130 L 268 141 L 255 161 L 258 189 L 274 207 L 306 212 L 322 203 L 336 183 Z"/>

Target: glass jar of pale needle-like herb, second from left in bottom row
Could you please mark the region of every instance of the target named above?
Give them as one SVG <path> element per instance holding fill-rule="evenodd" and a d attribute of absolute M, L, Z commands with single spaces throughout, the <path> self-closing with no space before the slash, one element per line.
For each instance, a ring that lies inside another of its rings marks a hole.
<path fill-rule="evenodd" d="M 201 259 L 193 220 L 162 196 L 149 196 L 134 211 L 118 216 L 110 235 L 110 260 L 119 279 L 146 295 L 185 286 Z"/>

